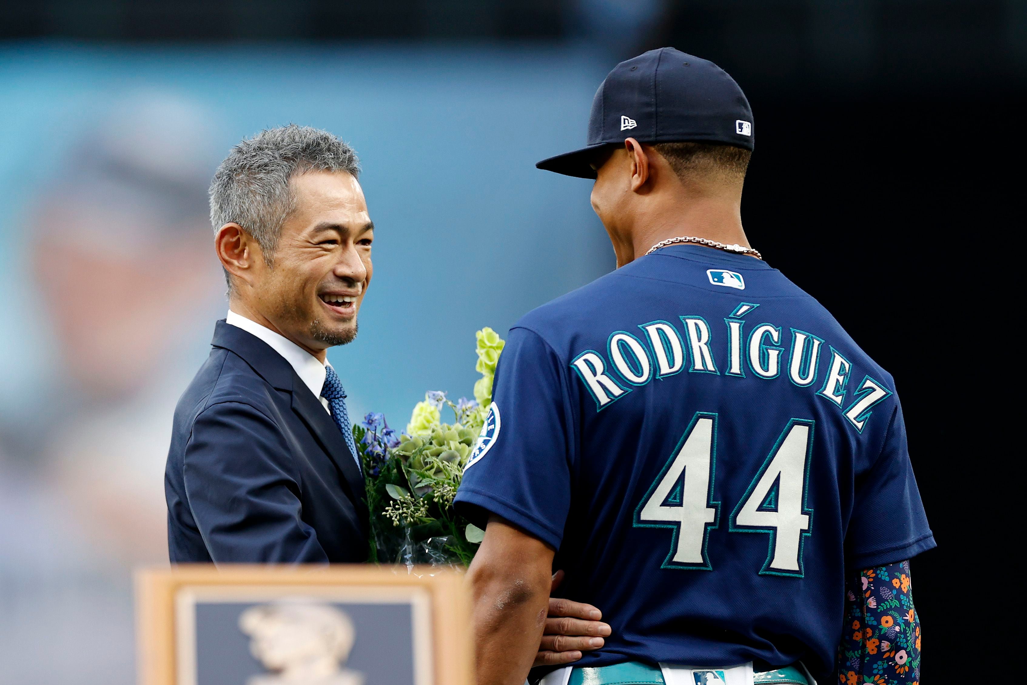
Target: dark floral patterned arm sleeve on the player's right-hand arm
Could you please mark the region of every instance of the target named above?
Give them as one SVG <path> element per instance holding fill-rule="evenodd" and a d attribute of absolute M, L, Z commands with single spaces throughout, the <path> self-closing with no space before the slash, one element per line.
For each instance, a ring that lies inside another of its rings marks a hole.
<path fill-rule="evenodd" d="M 920 681 L 920 616 L 909 561 L 852 574 L 845 582 L 845 630 L 838 645 L 842 685 Z"/>

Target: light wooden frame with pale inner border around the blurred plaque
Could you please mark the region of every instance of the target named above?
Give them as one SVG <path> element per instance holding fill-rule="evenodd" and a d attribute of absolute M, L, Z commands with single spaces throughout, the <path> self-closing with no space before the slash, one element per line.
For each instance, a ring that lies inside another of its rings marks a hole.
<path fill-rule="evenodd" d="M 196 652 L 202 648 L 202 643 L 197 647 L 196 625 L 200 604 L 231 607 L 249 602 L 272 606 L 296 598 L 356 603 L 382 615 L 384 609 L 376 609 L 378 605 L 409 606 L 409 612 L 404 614 L 411 617 L 407 619 L 409 629 L 402 627 L 409 630 L 414 651 L 415 682 L 411 685 L 473 685 L 470 600 L 463 574 L 430 567 L 414 567 L 408 572 L 402 566 L 371 565 L 183 565 L 139 571 L 136 599 L 140 685 L 204 682 L 197 676 L 196 665 Z M 366 685 L 376 683 L 370 680 Z"/>

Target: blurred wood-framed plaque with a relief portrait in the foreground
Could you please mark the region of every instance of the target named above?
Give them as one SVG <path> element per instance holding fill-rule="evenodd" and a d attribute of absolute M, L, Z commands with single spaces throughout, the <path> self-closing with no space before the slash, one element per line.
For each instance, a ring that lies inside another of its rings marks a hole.
<path fill-rule="evenodd" d="M 472 685 L 455 571 L 179 566 L 137 575 L 141 685 Z"/>

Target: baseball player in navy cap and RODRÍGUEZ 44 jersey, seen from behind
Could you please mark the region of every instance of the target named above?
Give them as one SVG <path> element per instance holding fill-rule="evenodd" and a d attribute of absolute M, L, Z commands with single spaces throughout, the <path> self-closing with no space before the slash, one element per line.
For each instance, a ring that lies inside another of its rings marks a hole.
<path fill-rule="evenodd" d="M 612 633 L 546 684 L 918 680 L 908 560 L 935 541 L 896 384 L 750 246 L 754 138 L 730 76 L 662 48 L 610 72 L 586 147 L 538 163 L 596 180 L 617 269 L 499 361 L 456 500 L 487 525 L 481 685 L 524 682 L 553 568 Z"/>

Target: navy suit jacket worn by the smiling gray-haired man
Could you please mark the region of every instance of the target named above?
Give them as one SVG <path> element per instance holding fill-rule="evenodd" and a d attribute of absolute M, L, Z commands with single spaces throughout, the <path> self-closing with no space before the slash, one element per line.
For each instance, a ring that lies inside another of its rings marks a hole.
<path fill-rule="evenodd" d="M 342 563 L 368 557 L 364 477 L 286 359 L 220 320 L 175 410 L 167 547 L 178 563 Z"/>

